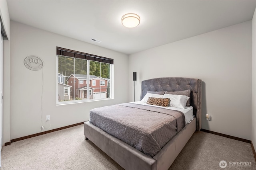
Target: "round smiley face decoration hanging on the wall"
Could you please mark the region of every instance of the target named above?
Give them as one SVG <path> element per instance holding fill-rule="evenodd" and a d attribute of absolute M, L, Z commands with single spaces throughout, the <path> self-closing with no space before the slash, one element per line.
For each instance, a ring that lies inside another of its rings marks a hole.
<path fill-rule="evenodd" d="M 28 69 L 34 71 L 40 70 L 44 66 L 44 62 L 42 61 L 42 59 L 34 55 L 26 57 L 26 59 L 24 60 L 24 64 Z"/>

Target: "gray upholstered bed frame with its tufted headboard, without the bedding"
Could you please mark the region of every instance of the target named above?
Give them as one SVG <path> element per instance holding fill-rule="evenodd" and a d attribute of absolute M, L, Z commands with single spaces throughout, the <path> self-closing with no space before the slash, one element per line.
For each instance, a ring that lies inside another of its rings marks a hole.
<path fill-rule="evenodd" d="M 123 142 L 102 130 L 104 128 L 101 129 L 90 123 L 91 120 L 84 122 L 85 140 L 89 139 L 92 141 L 92 143 L 126 170 L 167 170 L 193 135 L 194 131 L 201 129 L 201 83 L 202 81 L 197 78 L 182 77 L 153 78 L 142 81 L 140 100 L 144 100 L 148 93 L 161 94 L 164 92 L 164 94 L 180 94 L 180 92 L 190 90 L 189 105 L 193 108 L 192 114 L 194 115 L 194 119 L 180 129 L 180 131 L 174 135 L 170 141 L 164 144 L 159 151 L 156 151 L 156 153 L 145 154 L 144 151 L 142 152 L 128 145 L 127 142 Z M 131 102 L 121 104 L 125 106 L 118 105 L 115 107 L 131 107 L 134 109 L 135 104 L 136 103 Z M 142 106 L 140 105 L 139 107 Z"/>

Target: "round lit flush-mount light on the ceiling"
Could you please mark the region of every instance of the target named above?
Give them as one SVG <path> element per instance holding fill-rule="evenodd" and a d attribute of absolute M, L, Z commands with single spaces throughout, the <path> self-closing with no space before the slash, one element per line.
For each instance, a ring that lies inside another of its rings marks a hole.
<path fill-rule="evenodd" d="M 125 14 L 122 16 L 122 24 L 128 28 L 136 27 L 140 24 L 140 17 L 133 13 Z"/>

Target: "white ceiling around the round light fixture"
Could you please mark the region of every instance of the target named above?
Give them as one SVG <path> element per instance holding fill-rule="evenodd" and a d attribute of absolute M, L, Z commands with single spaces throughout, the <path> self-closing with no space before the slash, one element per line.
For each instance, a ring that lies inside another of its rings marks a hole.
<path fill-rule="evenodd" d="M 255 0 L 7 0 L 10 19 L 124 54 L 252 20 Z M 140 16 L 126 28 L 124 14 Z M 100 43 L 91 41 L 97 39 Z"/>

